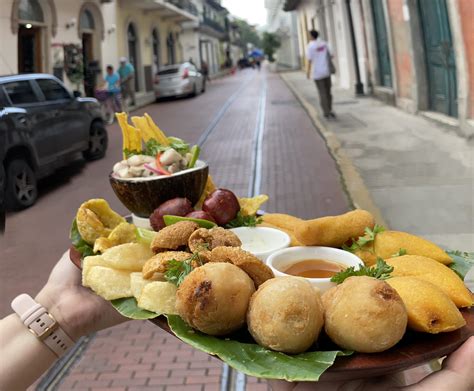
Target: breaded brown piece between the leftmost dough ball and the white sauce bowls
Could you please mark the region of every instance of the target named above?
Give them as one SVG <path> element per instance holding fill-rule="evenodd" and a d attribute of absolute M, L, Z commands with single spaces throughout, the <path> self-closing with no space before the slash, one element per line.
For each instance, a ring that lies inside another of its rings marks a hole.
<path fill-rule="evenodd" d="M 216 247 L 211 251 L 210 260 L 211 262 L 230 262 L 240 267 L 250 276 L 257 288 L 274 277 L 272 269 L 255 255 L 240 247 Z"/>

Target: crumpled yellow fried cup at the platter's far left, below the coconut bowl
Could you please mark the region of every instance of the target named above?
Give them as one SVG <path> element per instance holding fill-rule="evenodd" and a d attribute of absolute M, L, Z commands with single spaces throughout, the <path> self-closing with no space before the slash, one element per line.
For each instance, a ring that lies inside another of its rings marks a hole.
<path fill-rule="evenodd" d="M 114 212 L 107 201 L 101 198 L 84 202 L 76 214 L 77 229 L 89 244 L 100 237 L 108 237 L 112 230 L 125 219 Z"/>

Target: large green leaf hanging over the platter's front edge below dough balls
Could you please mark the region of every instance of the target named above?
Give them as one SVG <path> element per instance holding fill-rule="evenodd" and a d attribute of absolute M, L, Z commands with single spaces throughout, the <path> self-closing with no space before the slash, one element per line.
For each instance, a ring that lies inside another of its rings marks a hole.
<path fill-rule="evenodd" d="M 334 364 L 337 356 L 351 355 L 350 351 L 315 351 L 296 355 L 273 352 L 256 343 L 202 334 L 189 327 L 179 316 L 168 315 L 168 325 L 182 341 L 218 356 L 232 368 L 249 376 L 288 381 L 317 381 Z"/>

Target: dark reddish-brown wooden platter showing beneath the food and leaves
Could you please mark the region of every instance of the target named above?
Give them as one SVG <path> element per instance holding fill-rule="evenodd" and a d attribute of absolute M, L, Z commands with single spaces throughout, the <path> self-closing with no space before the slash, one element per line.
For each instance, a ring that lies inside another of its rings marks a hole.
<path fill-rule="evenodd" d="M 71 247 L 69 255 L 71 261 L 80 267 L 81 254 Z M 446 356 L 474 335 L 474 308 L 462 309 L 461 313 L 466 320 L 466 325 L 461 329 L 436 335 L 409 331 L 397 345 L 385 352 L 354 353 L 346 357 L 338 357 L 334 365 L 321 376 L 321 380 L 351 380 L 383 376 Z M 162 330 L 175 335 L 165 316 L 159 316 L 150 321 Z M 321 335 L 318 340 L 318 350 L 337 349 L 327 336 Z"/>

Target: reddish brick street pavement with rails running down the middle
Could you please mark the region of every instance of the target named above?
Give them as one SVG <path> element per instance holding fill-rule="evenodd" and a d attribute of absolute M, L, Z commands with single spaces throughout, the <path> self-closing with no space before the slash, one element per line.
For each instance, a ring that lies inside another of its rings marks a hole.
<path fill-rule="evenodd" d="M 304 218 L 339 214 L 351 208 L 335 160 L 310 117 L 276 74 L 245 70 L 213 81 L 194 99 L 152 104 L 148 112 L 168 134 L 199 141 L 203 158 L 220 187 L 239 196 L 266 193 L 267 211 Z M 77 207 L 93 197 L 106 198 L 120 213 L 127 211 L 108 184 L 121 158 L 121 134 L 109 127 L 105 159 L 78 163 L 42 183 L 38 203 L 7 217 L 0 239 L 2 267 L 0 314 L 10 312 L 20 292 L 34 295 L 52 266 L 69 246 L 68 231 Z M 218 390 L 221 362 L 199 353 L 150 322 L 127 322 L 97 333 L 55 376 L 59 390 Z M 247 390 L 266 390 L 266 383 L 239 375 Z M 41 389 L 44 388 L 44 381 Z"/>

